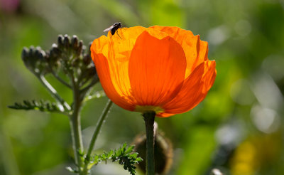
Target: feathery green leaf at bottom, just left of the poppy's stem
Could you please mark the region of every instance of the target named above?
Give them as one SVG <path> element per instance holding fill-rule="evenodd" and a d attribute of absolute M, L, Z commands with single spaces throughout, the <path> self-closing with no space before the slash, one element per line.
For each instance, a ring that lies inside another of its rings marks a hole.
<path fill-rule="evenodd" d="M 119 164 L 124 166 L 125 170 L 128 170 L 130 174 L 134 175 L 136 173 L 136 166 L 139 161 L 142 161 L 141 157 L 138 157 L 138 153 L 133 153 L 134 146 L 127 146 L 124 144 L 119 149 L 110 150 L 109 152 L 104 152 L 102 154 L 94 154 L 90 159 L 90 164 L 88 169 L 92 166 L 99 164 L 102 161 L 112 160 L 118 161 Z"/>

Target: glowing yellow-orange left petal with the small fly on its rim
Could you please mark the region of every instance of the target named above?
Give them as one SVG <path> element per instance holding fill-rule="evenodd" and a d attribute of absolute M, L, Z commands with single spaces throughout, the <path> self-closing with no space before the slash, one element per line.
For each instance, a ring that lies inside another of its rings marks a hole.
<path fill-rule="evenodd" d="M 107 89 L 110 88 L 111 90 L 109 91 L 111 91 L 112 94 L 124 98 L 124 100 L 131 105 L 133 105 L 136 100 L 133 98 L 133 95 L 131 95 L 129 57 L 133 46 L 136 43 L 136 39 L 146 30 L 150 32 L 154 31 L 153 29 L 143 28 L 141 26 L 119 28 L 114 35 L 109 33 L 107 37 L 101 36 L 92 43 L 92 58 L 97 67 L 97 72 L 104 90 L 107 91 Z M 161 32 L 159 32 L 160 35 L 155 33 L 155 31 L 151 33 L 156 34 L 156 36 L 159 36 L 160 38 L 168 36 Z M 102 68 L 102 65 L 104 65 L 104 68 Z M 102 70 L 102 73 L 99 73 L 99 70 Z M 104 75 L 104 72 L 107 72 L 108 75 Z M 102 82 L 104 81 L 102 79 L 105 76 L 109 79 L 106 81 L 107 83 Z M 108 84 L 110 83 L 111 85 L 109 87 Z M 106 92 L 106 94 L 111 98 L 111 95 L 108 92 Z M 116 105 L 119 105 L 118 102 L 115 103 Z M 126 107 L 128 106 L 126 105 Z"/>

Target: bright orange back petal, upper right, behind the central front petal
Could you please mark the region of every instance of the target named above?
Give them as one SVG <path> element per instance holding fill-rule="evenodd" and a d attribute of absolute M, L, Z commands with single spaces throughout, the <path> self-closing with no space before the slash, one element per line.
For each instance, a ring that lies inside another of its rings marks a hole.
<path fill-rule="evenodd" d="M 151 28 L 168 33 L 169 36 L 180 43 L 187 58 L 185 78 L 187 78 L 200 63 L 208 60 L 208 43 L 201 41 L 199 35 L 194 36 L 191 31 L 186 31 L 178 27 L 152 26 Z"/>

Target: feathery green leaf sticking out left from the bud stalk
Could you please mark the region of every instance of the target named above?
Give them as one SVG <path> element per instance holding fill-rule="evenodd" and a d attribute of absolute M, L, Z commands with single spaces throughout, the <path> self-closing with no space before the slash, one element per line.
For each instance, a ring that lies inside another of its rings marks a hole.
<path fill-rule="evenodd" d="M 62 105 L 58 105 L 55 102 L 49 102 L 44 100 L 23 100 L 23 103 L 15 102 L 14 105 L 8 106 L 14 110 L 39 110 L 41 112 L 63 112 Z"/>

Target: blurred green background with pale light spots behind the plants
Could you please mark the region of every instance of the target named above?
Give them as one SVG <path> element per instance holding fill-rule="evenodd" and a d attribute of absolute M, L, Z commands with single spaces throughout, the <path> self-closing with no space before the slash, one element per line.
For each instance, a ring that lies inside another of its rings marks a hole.
<path fill-rule="evenodd" d="M 0 174 L 70 174 L 67 117 L 7 108 L 13 102 L 52 100 L 21 61 L 23 46 L 51 47 L 58 34 L 84 44 L 112 23 L 179 26 L 209 42 L 217 78 L 206 99 L 182 115 L 158 118 L 173 142 L 169 174 L 284 174 L 284 1 L 282 0 L 0 0 Z M 54 81 L 55 83 L 55 81 Z M 63 97 L 70 92 L 59 83 Z M 96 85 L 98 90 L 101 89 Z M 87 145 L 107 97 L 82 110 Z M 114 106 L 95 149 L 131 144 L 144 131 L 136 112 Z M 96 174 L 128 174 L 109 162 Z"/>

